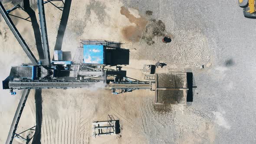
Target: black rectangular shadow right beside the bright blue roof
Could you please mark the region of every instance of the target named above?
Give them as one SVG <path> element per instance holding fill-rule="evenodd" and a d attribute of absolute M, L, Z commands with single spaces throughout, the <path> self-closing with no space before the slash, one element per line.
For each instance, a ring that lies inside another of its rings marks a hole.
<path fill-rule="evenodd" d="M 106 49 L 106 55 L 107 65 L 129 65 L 129 49 Z"/>

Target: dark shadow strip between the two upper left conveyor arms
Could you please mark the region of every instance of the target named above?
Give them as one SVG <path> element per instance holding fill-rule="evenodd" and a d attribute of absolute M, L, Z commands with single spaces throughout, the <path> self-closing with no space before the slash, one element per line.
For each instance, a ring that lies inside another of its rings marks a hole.
<path fill-rule="evenodd" d="M 35 36 L 35 40 L 36 40 L 36 49 L 37 49 L 37 52 L 39 55 L 39 59 L 44 59 L 40 28 L 39 28 L 39 24 L 37 23 L 37 20 L 36 20 L 36 13 L 30 7 L 30 0 L 23 0 L 23 7 L 31 19 L 33 32 L 34 32 L 34 36 Z"/>

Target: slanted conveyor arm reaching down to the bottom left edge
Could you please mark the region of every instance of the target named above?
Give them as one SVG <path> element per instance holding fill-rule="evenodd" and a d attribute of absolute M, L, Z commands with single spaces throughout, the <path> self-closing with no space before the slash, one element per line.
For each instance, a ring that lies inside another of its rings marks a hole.
<path fill-rule="evenodd" d="M 30 93 L 29 89 L 25 89 L 23 91 L 23 93 L 22 93 L 19 105 L 17 107 L 17 110 L 16 110 L 14 118 L 13 118 L 13 122 L 11 124 L 11 128 L 10 128 L 9 134 L 7 136 L 6 144 L 12 144 L 12 142 L 13 142 L 13 138 L 15 137 L 15 134 L 16 134 L 15 132 L 16 132 L 16 129 L 18 127 L 18 124 L 19 124 L 19 121 L 20 121 L 20 117 L 21 117 L 23 108 L 25 107 L 26 99 L 27 99 L 29 93 Z"/>

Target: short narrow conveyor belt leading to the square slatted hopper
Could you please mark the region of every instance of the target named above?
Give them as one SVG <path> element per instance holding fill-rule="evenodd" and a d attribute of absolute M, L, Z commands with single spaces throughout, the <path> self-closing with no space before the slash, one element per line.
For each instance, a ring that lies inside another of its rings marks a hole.
<path fill-rule="evenodd" d="M 150 89 L 150 83 L 112 83 L 111 88 L 136 88 L 136 89 Z"/>

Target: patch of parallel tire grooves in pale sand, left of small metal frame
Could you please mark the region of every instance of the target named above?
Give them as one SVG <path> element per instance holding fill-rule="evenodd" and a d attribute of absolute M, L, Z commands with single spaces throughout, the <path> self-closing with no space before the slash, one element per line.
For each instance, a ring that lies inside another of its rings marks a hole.
<path fill-rule="evenodd" d="M 42 139 L 44 144 L 79 144 L 86 142 L 89 120 L 80 118 L 79 111 L 66 118 L 43 118 Z M 82 142 L 83 141 L 83 142 Z"/>

